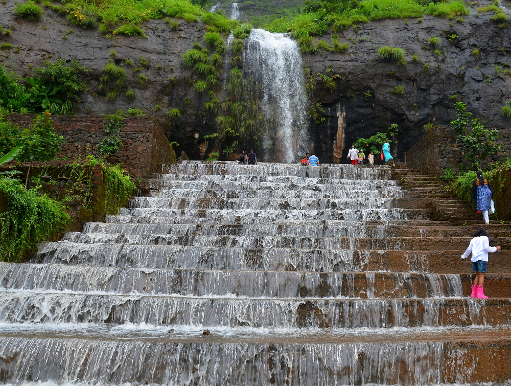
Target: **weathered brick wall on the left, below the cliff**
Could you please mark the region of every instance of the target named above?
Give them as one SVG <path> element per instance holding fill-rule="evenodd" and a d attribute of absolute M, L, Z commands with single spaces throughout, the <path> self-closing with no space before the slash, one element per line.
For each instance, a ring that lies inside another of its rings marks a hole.
<path fill-rule="evenodd" d="M 12 114 L 7 119 L 27 127 L 34 114 Z M 52 116 L 53 127 L 64 137 L 60 158 L 83 159 L 88 154 L 97 155 L 98 143 L 107 138 L 104 118 L 100 116 Z M 123 168 L 133 177 L 149 177 L 157 172 L 159 164 L 176 162 L 176 154 L 154 117 L 125 117 L 120 138 L 123 146 L 109 157 L 111 163 L 123 163 Z"/>

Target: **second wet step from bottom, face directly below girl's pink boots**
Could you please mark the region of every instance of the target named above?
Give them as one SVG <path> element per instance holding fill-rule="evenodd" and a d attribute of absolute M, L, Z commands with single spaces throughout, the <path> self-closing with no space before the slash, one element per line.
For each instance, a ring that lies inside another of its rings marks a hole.
<path fill-rule="evenodd" d="M 236 298 L 0 290 L 0 323 L 235 328 L 508 325 L 510 299 Z"/>

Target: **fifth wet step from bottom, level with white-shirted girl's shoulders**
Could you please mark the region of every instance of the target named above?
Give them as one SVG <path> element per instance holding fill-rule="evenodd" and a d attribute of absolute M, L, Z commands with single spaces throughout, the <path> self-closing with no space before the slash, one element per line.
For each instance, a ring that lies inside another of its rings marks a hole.
<path fill-rule="evenodd" d="M 471 237 L 444 237 L 445 251 L 466 248 Z M 68 232 L 62 242 L 92 244 L 144 244 L 144 245 L 184 245 L 184 246 L 217 246 L 241 248 L 317 248 L 317 249 L 376 249 L 387 251 L 428 251 L 438 247 L 437 237 L 386 237 L 386 238 L 355 238 L 355 237 L 291 237 L 291 236 L 188 236 L 188 235 L 155 235 L 155 234 L 113 234 L 113 233 L 81 233 Z M 511 243 L 510 238 L 494 238 L 498 245 Z"/>

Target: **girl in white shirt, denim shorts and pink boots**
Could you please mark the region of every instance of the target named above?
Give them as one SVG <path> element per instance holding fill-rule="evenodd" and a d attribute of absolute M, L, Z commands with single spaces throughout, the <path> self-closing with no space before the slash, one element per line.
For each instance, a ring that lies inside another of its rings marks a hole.
<path fill-rule="evenodd" d="M 501 249 L 502 247 L 500 246 L 490 246 L 490 239 L 484 229 L 479 227 L 476 233 L 474 233 L 474 238 L 470 240 L 467 251 L 461 255 L 461 260 L 464 260 L 472 253 L 472 270 L 476 273 L 476 279 L 472 285 L 471 298 L 488 299 L 484 295 L 484 274 L 486 272 L 488 253 L 494 253 Z"/>

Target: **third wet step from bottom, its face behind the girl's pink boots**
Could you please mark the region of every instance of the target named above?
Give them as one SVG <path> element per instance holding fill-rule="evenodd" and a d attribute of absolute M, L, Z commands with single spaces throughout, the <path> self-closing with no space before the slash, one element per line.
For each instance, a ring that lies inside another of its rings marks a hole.
<path fill-rule="evenodd" d="M 251 298 L 462 297 L 471 276 L 417 273 L 220 271 L 0 263 L 0 288 Z M 511 297 L 510 275 L 489 274 L 487 294 Z"/>

